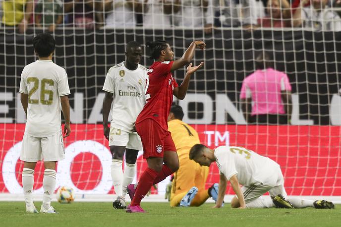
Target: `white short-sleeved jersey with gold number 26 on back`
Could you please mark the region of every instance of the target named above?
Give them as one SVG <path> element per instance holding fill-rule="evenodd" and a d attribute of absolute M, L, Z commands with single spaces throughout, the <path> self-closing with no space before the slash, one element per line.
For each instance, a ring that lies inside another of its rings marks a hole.
<path fill-rule="evenodd" d="M 28 94 L 25 133 L 48 137 L 60 131 L 60 96 L 69 95 L 65 69 L 52 60 L 37 60 L 24 67 L 20 93 Z"/>

